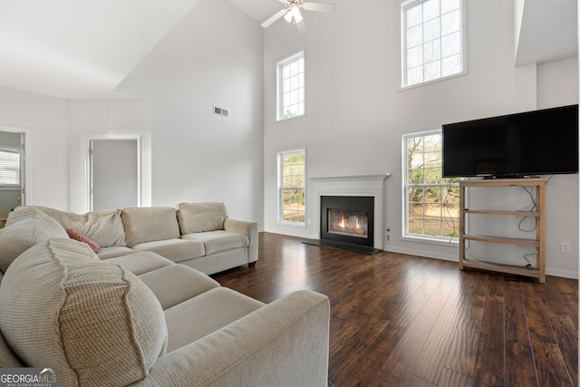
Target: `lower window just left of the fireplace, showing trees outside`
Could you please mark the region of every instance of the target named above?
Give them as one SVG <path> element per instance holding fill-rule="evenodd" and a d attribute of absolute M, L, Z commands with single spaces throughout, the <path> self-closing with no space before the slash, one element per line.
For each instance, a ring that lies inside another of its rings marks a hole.
<path fill-rule="evenodd" d="M 304 225 L 306 196 L 306 152 L 278 153 L 279 221 Z"/>

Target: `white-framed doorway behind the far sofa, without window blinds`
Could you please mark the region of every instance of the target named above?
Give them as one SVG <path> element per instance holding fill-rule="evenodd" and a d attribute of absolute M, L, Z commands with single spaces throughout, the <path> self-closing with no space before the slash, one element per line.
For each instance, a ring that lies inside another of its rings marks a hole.
<path fill-rule="evenodd" d="M 140 206 L 140 141 L 89 141 L 91 210 Z"/>

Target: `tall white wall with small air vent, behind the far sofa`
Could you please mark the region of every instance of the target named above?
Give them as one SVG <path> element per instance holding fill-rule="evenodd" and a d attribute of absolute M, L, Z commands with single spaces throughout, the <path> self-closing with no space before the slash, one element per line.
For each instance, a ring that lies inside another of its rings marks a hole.
<path fill-rule="evenodd" d="M 202 0 L 121 82 L 117 92 L 151 103 L 152 205 L 222 201 L 263 227 L 262 69 L 260 25 Z"/>

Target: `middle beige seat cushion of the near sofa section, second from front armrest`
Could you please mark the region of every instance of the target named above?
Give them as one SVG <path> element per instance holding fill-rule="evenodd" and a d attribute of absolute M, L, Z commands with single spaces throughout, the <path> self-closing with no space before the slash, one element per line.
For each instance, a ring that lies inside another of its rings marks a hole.
<path fill-rule="evenodd" d="M 219 287 L 218 282 L 209 276 L 179 264 L 150 271 L 140 275 L 139 279 L 157 296 L 163 309 Z"/>

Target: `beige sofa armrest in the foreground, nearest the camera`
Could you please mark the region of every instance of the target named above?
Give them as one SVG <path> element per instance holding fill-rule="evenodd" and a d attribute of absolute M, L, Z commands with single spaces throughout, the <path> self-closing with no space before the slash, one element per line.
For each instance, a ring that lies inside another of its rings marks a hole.
<path fill-rule="evenodd" d="M 299 290 L 166 353 L 135 386 L 327 386 L 330 303 Z"/>

